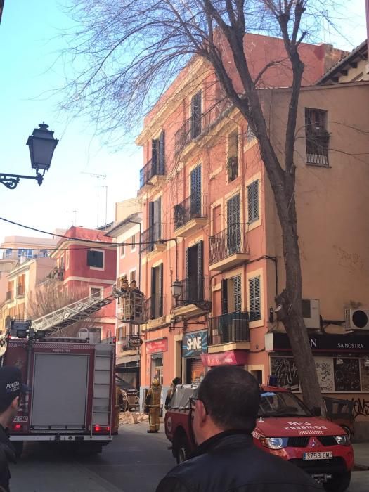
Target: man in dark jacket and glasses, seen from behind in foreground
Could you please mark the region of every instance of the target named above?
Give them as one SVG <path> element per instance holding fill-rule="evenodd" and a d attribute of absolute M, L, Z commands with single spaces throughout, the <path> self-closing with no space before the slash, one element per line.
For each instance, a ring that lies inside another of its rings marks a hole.
<path fill-rule="evenodd" d="M 322 488 L 297 466 L 254 445 L 260 389 L 232 365 L 209 370 L 190 398 L 197 449 L 174 467 L 156 492 L 316 492 Z"/>

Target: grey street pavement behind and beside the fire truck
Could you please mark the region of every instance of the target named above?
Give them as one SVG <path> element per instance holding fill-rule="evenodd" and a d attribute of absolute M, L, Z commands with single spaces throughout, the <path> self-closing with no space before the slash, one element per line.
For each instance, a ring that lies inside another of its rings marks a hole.
<path fill-rule="evenodd" d="M 11 492 L 154 492 L 175 460 L 163 425 L 159 434 L 147 428 L 123 425 L 101 455 L 89 457 L 31 444 L 11 468 Z M 353 472 L 348 492 L 368 491 L 369 470 Z"/>

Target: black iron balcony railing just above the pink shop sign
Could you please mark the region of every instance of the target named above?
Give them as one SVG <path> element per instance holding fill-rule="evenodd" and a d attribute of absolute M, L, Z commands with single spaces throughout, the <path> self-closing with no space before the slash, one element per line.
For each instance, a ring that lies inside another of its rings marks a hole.
<path fill-rule="evenodd" d="M 226 313 L 209 319 L 209 345 L 250 342 L 249 314 Z"/>

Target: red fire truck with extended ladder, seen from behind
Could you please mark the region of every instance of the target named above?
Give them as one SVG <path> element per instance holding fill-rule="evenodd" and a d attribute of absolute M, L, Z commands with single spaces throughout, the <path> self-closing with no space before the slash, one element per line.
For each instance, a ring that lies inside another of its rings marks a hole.
<path fill-rule="evenodd" d="M 108 297 L 97 292 L 32 322 L 12 321 L 0 337 L 0 364 L 20 368 L 30 387 L 10 429 L 18 455 L 25 441 L 70 443 L 99 453 L 117 434 L 115 337 L 92 343 L 58 332 L 119 297 L 114 287 Z"/>

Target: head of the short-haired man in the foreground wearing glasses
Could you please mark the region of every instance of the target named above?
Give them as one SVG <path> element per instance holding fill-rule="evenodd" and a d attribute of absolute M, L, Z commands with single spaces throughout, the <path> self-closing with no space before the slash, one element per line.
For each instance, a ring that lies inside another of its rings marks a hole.
<path fill-rule="evenodd" d="M 234 365 L 210 370 L 191 402 L 196 442 L 227 430 L 252 432 L 259 403 L 259 384 L 250 373 Z"/>

